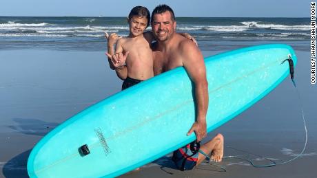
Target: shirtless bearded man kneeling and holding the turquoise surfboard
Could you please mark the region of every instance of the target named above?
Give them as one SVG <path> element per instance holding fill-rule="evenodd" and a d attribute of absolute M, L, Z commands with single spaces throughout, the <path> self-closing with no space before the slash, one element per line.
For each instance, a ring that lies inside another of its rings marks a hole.
<path fill-rule="evenodd" d="M 197 115 L 196 122 L 194 122 L 187 135 L 194 132 L 196 141 L 200 142 L 203 137 L 206 137 L 206 114 L 208 108 L 208 83 L 203 55 L 194 43 L 176 34 L 174 12 L 169 6 L 158 5 L 153 10 L 151 25 L 153 35 L 156 38 L 156 43 L 152 45 L 154 76 L 175 67 L 183 66 L 190 75 L 192 82 L 194 82 Z M 212 159 L 220 162 L 223 157 L 223 135 L 216 135 L 213 140 L 201 146 L 201 151 L 206 155 L 211 153 Z M 195 156 L 196 163 L 194 166 L 205 159 L 205 155 L 201 153 L 197 153 Z M 190 166 L 187 170 L 192 169 L 194 166 Z"/>

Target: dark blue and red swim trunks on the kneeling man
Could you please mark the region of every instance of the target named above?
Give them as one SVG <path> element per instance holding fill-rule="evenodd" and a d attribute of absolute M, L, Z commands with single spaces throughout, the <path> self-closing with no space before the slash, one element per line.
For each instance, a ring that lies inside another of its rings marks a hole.
<path fill-rule="evenodd" d="M 190 144 L 174 151 L 172 160 L 179 170 L 192 170 L 198 161 L 198 150 L 192 151 Z M 199 148 L 198 148 L 199 149 Z"/>

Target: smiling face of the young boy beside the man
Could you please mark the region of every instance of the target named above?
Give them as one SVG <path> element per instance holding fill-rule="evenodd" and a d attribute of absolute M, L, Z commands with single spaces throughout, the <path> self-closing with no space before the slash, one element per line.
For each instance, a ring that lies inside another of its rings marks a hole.
<path fill-rule="evenodd" d="M 143 34 L 147 25 L 147 19 L 145 16 L 132 16 L 128 22 L 130 26 L 130 34 L 132 34 L 132 36 L 139 36 L 140 34 Z"/>

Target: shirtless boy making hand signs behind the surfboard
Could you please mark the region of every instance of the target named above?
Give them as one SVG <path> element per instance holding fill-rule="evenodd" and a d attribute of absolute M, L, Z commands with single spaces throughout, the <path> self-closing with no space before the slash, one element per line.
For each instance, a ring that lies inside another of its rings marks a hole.
<path fill-rule="evenodd" d="M 130 33 L 126 38 L 119 38 L 116 34 L 110 36 L 106 34 L 109 53 L 106 54 L 110 68 L 115 69 L 119 78 L 124 80 L 122 89 L 154 76 L 152 49 L 150 47 L 152 38 L 150 35 L 143 34 L 145 28 L 150 25 L 149 10 L 142 6 L 132 8 L 127 22 Z M 115 53 L 114 43 L 116 43 Z M 124 59 L 119 61 L 117 55 L 123 55 Z"/>

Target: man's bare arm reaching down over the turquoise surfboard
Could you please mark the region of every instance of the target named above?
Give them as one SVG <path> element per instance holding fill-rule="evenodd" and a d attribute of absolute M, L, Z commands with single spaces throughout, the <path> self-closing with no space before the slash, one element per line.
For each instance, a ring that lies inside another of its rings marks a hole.
<path fill-rule="evenodd" d="M 197 115 L 196 122 L 187 135 L 193 131 L 196 133 L 196 139 L 200 142 L 206 136 L 206 115 L 208 109 L 208 82 L 206 78 L 205 63 L 201 51 L 188 41 L 181 45 L 181 54 L 183 66 L 185 67 L 195 86 L 195 98 Z"/>

